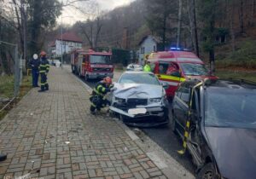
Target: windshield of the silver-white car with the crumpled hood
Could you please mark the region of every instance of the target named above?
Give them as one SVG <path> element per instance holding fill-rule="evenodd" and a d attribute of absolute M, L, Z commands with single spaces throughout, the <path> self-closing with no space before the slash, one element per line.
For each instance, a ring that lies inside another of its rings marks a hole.
<path fill-rule="evenodd" d="M 125 73 L 119 79 L 120 84 L 154 84 L 160 85 L 154 74 L 150 73 Z"/>

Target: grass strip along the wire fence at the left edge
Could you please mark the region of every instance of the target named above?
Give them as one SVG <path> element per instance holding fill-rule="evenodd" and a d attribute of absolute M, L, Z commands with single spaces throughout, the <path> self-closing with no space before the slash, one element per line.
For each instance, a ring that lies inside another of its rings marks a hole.
<path fill-rule="evenodd" d="M 14 76 L 4 76 L 0 77 L 0 96 L 6 98 L 13 98 L 14 96 Z M 32 77 L 24 76 L 22 80 L 22 84 L 20 85 L 20 94 L 16 98 L 16 100 L 9 105 L 9 107 L 5 108 L 2 112 L 0 112 L 0 120 L 4 118 L 4 116 L 9 112 L 9 110 L 14 107 L 14 105 L 20 101 L 20 99 L 27 94 L 29 90 L 32 89 Z M 5 104 L 0 103 L 0 109 L 4 107 Z"/>

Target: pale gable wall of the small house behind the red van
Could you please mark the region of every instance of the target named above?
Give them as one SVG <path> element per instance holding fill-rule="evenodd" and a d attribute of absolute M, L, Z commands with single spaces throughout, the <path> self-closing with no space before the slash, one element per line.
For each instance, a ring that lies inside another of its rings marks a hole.
<path fill-rule="evenodd" d="M 144 40 L 139 49 L 139 63 L 144 64 L 145 55 L 148 55 L 157 50 L 157 43 L 149 36 Z"/>

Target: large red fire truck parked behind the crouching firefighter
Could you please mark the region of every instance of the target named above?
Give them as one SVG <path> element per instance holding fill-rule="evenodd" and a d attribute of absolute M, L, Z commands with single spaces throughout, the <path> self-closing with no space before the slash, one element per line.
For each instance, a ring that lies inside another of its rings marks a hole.
<path fill-rule="evenodd" d="M 86 81 L 96 78 L 113 78 L 112 53 L 77 49 L 71 53 L 72 72 Z"/>

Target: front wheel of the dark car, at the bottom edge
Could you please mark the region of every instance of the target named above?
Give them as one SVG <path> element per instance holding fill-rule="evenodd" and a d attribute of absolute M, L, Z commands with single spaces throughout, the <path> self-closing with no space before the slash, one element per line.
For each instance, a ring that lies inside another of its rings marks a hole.
<path fill-rule="evenodd" d="M 196 179 L 216 179 L 217 174 L 212 163 L 207 163 L 198 172 Z"/>

